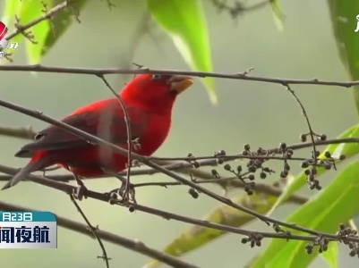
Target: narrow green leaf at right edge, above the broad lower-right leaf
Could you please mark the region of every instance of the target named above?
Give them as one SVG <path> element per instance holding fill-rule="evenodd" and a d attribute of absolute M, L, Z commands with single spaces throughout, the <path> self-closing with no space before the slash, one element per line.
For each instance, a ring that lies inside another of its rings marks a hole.
<path fill-rule="evenodd" d="M 338 136 L 338 138 L 353 138 L 358 136 L 359 136 L 359 124 L 344 131 Z M 319 158 L 324 158 L 324 152 L 326 151 L 329 151 L 331 155 L 333 155 L 334 157 L 338 157 L 339 155 L 346 155 L 346 160 L 347 160 L 348 158 L 359 154 L 359 144 L 357 143 L 331 144 L 325 148 L 325 150 L 321 153 Z M 318 175 L 324 172 L 328 172 L 323 168 L 318 168 L 317 171 L 318 171 Z M 283 191 L 283 194 L 278 198 L 277 203 L 273 205 L 273 207 L 270 209 L 268 215 L 271 214 L 278 207 L 278 205 L 285 202 L 288 199 L 288 197 L 291 197 L 297 190 L 302 188 L 304 185 L 306 185 L 306 175 L 304 174 L 304 172 L 301 172 L 298 176 L 295 177 L 295 180 L 290 181 L 290 183 Z"/>

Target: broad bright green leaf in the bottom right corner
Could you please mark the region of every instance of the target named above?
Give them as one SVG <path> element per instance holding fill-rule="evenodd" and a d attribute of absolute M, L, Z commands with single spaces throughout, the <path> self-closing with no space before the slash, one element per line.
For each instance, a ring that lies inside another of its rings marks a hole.
<path fill-rule="evenodd" d="M 359 162 L 350 163 L 327 188 L 302 205 L 286 222 L 295 222 L 311 230 L 335 233 L 341 222 L 347 222 L 359 212 Z M 303 234 L 291 230 L 292 234 Z M 265 252 L 254 261 L 252 268 L 308 267 L 319 254 L 315 247 L 311 255 L 305 252 L 308 242 L 272 239 Z M 337 243 L 337 242 L 331 242 Z"/>

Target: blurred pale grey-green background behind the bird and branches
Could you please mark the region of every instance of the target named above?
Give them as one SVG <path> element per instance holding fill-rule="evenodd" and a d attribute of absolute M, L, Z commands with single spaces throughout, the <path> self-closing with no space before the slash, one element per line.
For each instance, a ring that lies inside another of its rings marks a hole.
<path fill-rule="evenodd" d="M 252 1 L 248 1 L 251 4 Z M 293 79 L 347 80 L 338 58 L 332 35 L 326 1 L 280 1 L 286 14 L 284 31 L 280 32 L 272 18 L 269 5 L 258 11 L 244 13 L 235 21 L 227 13 L 218 13 L 210 1 L 204 1 L 209 24 L 209 37 L 215 71 L 237 73 L 254 67 L 253 75 Z M 3 3 L 0 3 L 2 7 Z M 81 12 L 81 24 L 73 24 L 42 64 L 73 67 L 123 66 L 132 50 L 132 39 L 146 13 L 143 1 L 116 1 L 109 11 L 106 1 L 90 1 Z M 0 9 L 1 10 L 1 9 Z M 160 29 L 151 28 L 152 36 L 140 39 L 133 57 L 134 63 L 152 68 L 188 69 L 184 60 Z M 355 34 L 355 33 L 354 33 Z M 24 44 L 14 56 L 14 63 L 26 63 Z M 115 88 L 122 88 L 130 76 L 110 76 Z M 62 118 L 75 108 L 100 98 L 112 96 L 101 80 L 92 76 L 38 73 L 1 72 L 0 97 L 19 105 L 34 108 L 55 118 Z M 166 144 L 156 155 L 211 155 L 225 149 L 237 153 L 245 143 L 252 147 L 275 147 L 281 141 L 299 142 L 299 134 L 307 132 L 302 113 L 285 88 L 274 84 L 241 80 L 216 80 L 218 105 L 211 105 L 198 80 L 191 90 L 178 98 L 173 116 L 173 128 Z M 336 87 L 294 86 L 303 101 L 314 130 L 335 137 L 357 121 L 351 90 Z M 25 115 L 0 108 L 0 125 L 34 130 L 46 126 Z M 0 138 L 0 162 L 21 167 L 26 160 L 13 154 L 26 141 Z M 272 163 L 271 168 L 280 168 Z M 299 171 L 295 163 L 293 171 Z M 335 172 L 332 172 L 332 175 Z M 165 176 L 133 177 L 133 181 L 163 180 Z M 272 175 L 270 179 L 278 179 Z M 118 186 L 115 179 L 90 180 L 88 188 L 107 191 Z M 211 189 L 220 193 L 218 187 Z M 235 191 L 232 195 L 238 195 Z M 308 193 L 308 191 L 307 191 Z M 309 192 L 313 195 L 314 192 Z M 177 214 L 200 217 L 209 213 L 217 202 L 200 196 L 193 199 L 187 188 L 140 188 L 140 204 Z M 16 188 L 1 192 L 1 200 L 47 210 L 82 222 L 69 197 L 56 190 L 34 183 L 22 182 Z M 161 249 L 187 227 L 95 200 L 81 202 L 81 207 L 93 225 L 101 230 L 140 239 L 150 247 Z M 275 217 L 283 219 L 293 211 L 293 205 L 278 209 Z M 266 230 L 261 222 L 246 228 Z M 111 267 L 141 267 L 149 259 L 122 247 L 105 242 Z M 263 248 L 251 249 L 240 238 L 228 235 L 206 247 L 185 255 L 184 260 L 201 267 L 244 267 L 253 255 Z M 88 237 L 62 228 L 58 229 L 57 250 L 1 250 L 2 267 L 104 267 L 98 243 Z M 357 265 L 356 259 L 342 250 L 340 267 Z M 321 259 L 312 267 L 326 267 Z"/>

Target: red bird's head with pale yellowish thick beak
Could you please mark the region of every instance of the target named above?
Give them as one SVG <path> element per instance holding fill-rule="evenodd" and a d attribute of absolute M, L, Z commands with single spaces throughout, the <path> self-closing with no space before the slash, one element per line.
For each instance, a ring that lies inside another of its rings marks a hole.
<path fill-rule="evenodd" d="M 192 84 L 190 76 L 140 74 L 125 86 L 121 96 L 128 104 L 141 103 L 154 112 L 162 113 L 171 110 L 176 96 Z"/>

